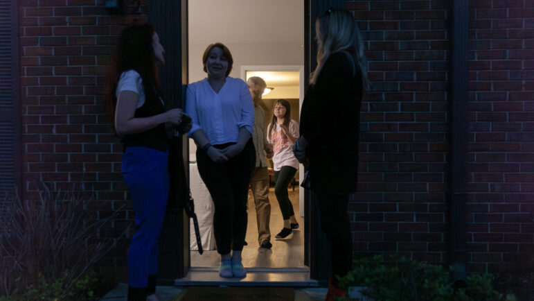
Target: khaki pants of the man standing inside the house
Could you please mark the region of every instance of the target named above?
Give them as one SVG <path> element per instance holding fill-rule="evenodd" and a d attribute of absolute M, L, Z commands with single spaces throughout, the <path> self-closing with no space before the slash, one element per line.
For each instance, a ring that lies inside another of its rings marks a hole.
<path fill-rule="evenodd" d="M 269 221 L 271 219 L 271 203 L 269 203 L 269 174 L 267 167 L 256 167 L 250 180 L 250 189 L 256 205 L 256 221 L 258 222 L 258 243 L 264 239 L 271 240 Z"/>

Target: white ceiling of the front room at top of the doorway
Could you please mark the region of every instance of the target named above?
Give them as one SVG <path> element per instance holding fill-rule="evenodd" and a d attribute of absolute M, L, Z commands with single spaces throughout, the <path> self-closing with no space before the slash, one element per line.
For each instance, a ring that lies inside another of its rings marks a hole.
<path fill-rule="evenodd" d="M 191 0 L 188 6 L 190 44 L 304 44 L 302 0 Z"/>

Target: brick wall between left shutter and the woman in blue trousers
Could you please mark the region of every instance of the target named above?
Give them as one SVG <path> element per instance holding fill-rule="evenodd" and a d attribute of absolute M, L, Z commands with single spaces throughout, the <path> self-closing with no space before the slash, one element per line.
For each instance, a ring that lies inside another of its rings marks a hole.
<path fill-rule="evenodd" d="M 133 2 L 125 1 L 125 11 Z M 105 111 L 106 66 L 123 26 L 144 22 L 147 10 L 142 2 L 141 15 L 109 15 L 103 4 L 19 0 L 24 197 L 35 198 L 42 185 L 91 191 L 90 209 L 100 216 L 130 205 L 122 146 Z M 131 219 L 132 212 L 121 214 L 105 235 L 116 237 Z M 102 264 L 125 266 L 126 243 Z"/>

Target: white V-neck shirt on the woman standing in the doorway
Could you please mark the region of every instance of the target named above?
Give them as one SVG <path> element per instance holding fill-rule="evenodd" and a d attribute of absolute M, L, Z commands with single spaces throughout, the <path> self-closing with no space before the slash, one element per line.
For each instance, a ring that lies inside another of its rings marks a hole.
<path fill-rule="evenodd" d="M 204 78 L 187 87 L 186 114 L 193 119 L 188 132 L 202 130 L 210 144 L 238 142 L 244 127 L 254 135 L 254 105 L 247 83 L 240 78 L 226 77 L 219 93 Z"/>

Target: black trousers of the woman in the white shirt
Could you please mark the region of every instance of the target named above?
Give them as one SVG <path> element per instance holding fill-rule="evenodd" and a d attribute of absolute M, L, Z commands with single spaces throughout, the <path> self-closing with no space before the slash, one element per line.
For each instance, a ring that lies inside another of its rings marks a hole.
<path fill-rule="evenodd" d="M 222 144 L 216 148 L 225 148 Z M 215 205 L 213 230 L 219 254 L 243 250 L 247 234 L 247 197 L 252 173 L 256 167 L 256 150 L 249 139 L 241 153 L 227 162 L 213 162 L 197 148 L 200 178 L 206 184 Z"/>

